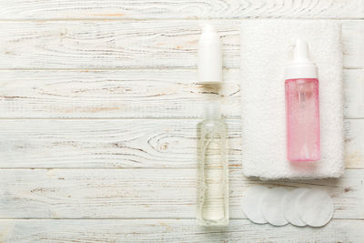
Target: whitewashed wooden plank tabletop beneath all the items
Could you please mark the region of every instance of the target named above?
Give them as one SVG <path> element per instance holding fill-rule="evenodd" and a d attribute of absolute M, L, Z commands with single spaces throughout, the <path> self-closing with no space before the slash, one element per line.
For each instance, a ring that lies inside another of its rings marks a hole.
<path fill-rule="evenodd" d="M 343 27 L 346 173 L 339 180 L 242 175 L 239 31 L 246 18 Z M 222 35 L 226 84 L 196 80 L 199 20 Z M 197 227 L 196 125 L 221 96 L 229 128 L 228 228 Z M 0 242 L 363 242 L 364 1 L 0 1 Z M 318 187 L 324 228 L 254 225 L 255 184 Z"/>

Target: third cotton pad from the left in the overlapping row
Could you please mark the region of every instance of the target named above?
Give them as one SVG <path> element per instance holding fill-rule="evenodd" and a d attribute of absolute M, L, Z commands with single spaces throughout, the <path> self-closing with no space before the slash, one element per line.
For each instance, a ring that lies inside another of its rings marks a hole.
<path fill-rule="evenodd" d="M 297 188 L 289 191 L 288 196 L 283 201 L 283 215 L 294 226 L 306 226 L 307 224 L 299 218 L 297 210 L 298 198 L 308 191 L 307 188 Z"/>

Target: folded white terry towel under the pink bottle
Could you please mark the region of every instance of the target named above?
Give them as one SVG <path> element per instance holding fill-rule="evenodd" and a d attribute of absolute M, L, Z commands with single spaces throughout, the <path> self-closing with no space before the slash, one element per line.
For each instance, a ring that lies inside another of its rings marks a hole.
<path fill-rule="evenodd" d="M 243 170 L 248 177 L 325 178 L 344 172 L 341 27 L 323 20 L 247 20 L 241 25 Z M 289 162 L 284 68 L 289 46 L 308 42 L 319 67 L 321 160 Z"/>

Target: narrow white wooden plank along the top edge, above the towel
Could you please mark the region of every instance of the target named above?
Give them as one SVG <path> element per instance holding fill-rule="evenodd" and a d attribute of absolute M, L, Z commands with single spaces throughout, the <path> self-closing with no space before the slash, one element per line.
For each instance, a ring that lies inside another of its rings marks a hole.
<path fill-rule="evenodd" d="M 363 18 L 360 0 L 225 1 L 2 1 L 1 19 L 167 19 L 167 18 Z"/>

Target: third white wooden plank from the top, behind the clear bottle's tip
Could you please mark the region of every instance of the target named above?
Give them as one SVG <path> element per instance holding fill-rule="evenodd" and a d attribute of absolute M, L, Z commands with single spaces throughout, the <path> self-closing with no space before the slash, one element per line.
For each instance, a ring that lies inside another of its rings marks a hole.
<path fill-rule="evenodd" d="M 0 70 L 0 76 L 2 118 L 201 118 L 214 99 L 225 116 L 241 115 L 238 69 L 225 70 L 219 90 L 197 85 L 195 69 Z M 346 117 L 364 118 L 364 71 L 344 70 L 344 87 Z"/>

